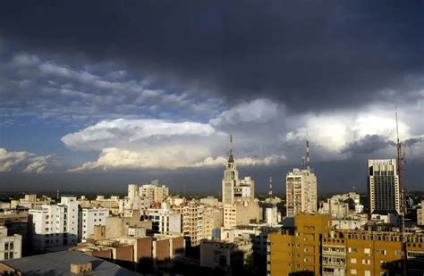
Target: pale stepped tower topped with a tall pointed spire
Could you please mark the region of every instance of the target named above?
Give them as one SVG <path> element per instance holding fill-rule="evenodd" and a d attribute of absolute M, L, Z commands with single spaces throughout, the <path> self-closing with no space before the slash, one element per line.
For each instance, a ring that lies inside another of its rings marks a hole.
<path fill-rule="evenodd" d="M 239 171 L 237 171 L 233 156 L 233 135 L 230 134 L 230 153 L 222 181 L 222 202 L 224 204 L 234 203 L 234 187 L 239 186 L 239 181 Z"/>

